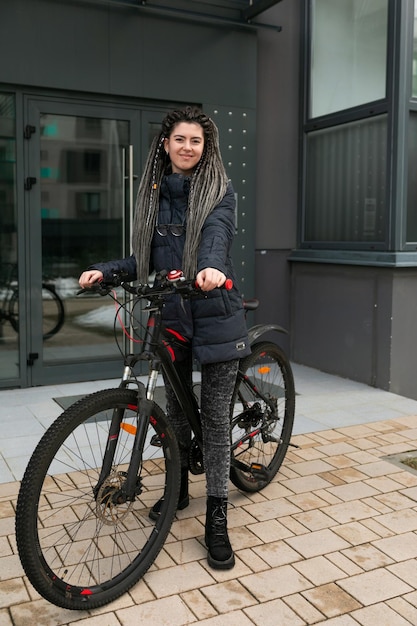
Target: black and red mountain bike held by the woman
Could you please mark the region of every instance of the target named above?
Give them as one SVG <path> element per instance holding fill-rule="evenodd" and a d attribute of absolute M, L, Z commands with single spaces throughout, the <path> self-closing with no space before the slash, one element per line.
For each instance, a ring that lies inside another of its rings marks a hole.
<path fill-rule="evenodd" d="M 141 349 L 125 357 L 120 386 L 64 411 L 36 447 L 21 483 L 19 556 L 35 589 L 60 607 L 91 609 L 115 600 L 146 573 L 164 545 L 177 511 L 180 456 L 169 419 L 155 402 L 162 372 L 194 434 L 189 471 L 204 472 L 197 394 L 173 361 L 176 345 L 186 340 L 164 328 L 161 312 L 174 293 L 205 296 L 181 272 L 157 278 L 153 286 L 121 281 L 134 295 L 130 328 L 121 323 L 130 339 L 139 337 Z M 103 284 L 98 289 L 112 295 L 121 318 L 117 292 Z M 145 309 L 138 309 L 144 301 Z M 256 302 L 246 304 L 255 307 Z M 274 324 L 249 330 L 251 354 L 240 362 L 231 402 L 230 479 L 245 492 L 266 487 L 292 445 L 294 379 L 282 349 L 262 339 L 272 330 L 283 332 Z M 149 363 L 146 385 L 134 372 L 142 361 Z M 161 497 L 154 522 L 150 508 Z"/>

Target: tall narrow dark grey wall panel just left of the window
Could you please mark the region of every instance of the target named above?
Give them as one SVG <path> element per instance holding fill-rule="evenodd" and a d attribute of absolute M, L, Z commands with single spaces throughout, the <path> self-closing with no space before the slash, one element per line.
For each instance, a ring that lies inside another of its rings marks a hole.
<path fill-rule="evenodd" d="M 282 32 L 258 33 L 256 248 L 288 250 L 297 237 L 300 2 L 261 17 Z"/>

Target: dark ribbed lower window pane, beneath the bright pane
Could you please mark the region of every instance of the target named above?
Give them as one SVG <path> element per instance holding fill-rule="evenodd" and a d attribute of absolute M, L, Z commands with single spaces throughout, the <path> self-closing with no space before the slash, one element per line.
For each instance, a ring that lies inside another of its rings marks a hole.
<path fill-rule="evenodd" d="M 383 242 L 387 118 L 308 134 L 305 241 Z"/>

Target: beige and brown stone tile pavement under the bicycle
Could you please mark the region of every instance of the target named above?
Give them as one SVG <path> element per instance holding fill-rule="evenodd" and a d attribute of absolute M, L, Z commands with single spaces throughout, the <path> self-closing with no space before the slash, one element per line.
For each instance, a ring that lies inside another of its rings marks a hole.
<path fill-rule="evenodd" d="M 384 418 L 375 412 L 367 423 L 358 412 L 357 423 L 295 429 L 292 443 L 299 447 L 290 449 L 272 484 L 255 494 L 232 488 L 234 569 L 206 563 L 205 482 L 193 476 L 190 506 L 178 512 L 153 567 L 101 609 L 68 611 L 36 594 L 16 555 L 19 482 L 0 484 L 1 626 L 417 624 L 417 472 L 386 459 L 417 450 L 417 410 L 405 410 L 413 401 L 386 394 L 382 402 L 376 390 L 346 385 L 342 400 L 363 392 L 372 406 L 397 402 L 391 417 L 381 408 Z M 318 414 L 317 396 L 312 404 Z M 352 398 L 350 407 L 356 411 Z"/>

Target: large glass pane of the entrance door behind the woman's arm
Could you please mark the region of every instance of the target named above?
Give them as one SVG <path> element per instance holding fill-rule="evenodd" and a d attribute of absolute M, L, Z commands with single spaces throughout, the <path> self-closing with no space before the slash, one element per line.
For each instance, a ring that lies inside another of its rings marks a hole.
<path fill-rule="evenodd" d="M 114 305 L 78 277 L 130 254 L 140 112 L 32 98 L 26 133 L 30 384 L 118 376 Z"/>

